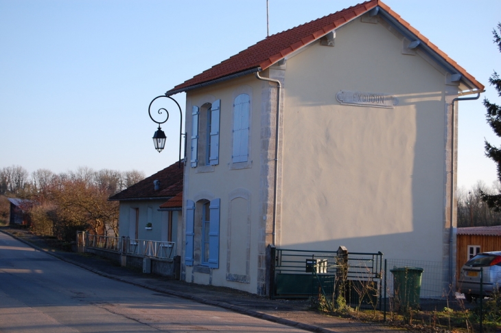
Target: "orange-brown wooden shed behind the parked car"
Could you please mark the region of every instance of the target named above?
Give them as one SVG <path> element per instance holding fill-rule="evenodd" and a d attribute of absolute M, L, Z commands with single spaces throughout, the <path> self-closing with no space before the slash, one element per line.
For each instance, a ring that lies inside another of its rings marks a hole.
<path fill-rule="evenodd" d="M 501 225 L 458 228 L 456 279 L 461 267 L 480 252 L 501 251 Z"/>

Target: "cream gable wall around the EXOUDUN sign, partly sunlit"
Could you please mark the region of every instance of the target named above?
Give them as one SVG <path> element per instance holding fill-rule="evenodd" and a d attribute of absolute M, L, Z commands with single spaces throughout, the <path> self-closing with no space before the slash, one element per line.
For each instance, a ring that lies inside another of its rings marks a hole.
<path fill-rule="evenodd" d="M 282 247 L 442 253 L 445 78 L 382 24 L 356 19 L 290 58 L 283 121 Z M 338 91 L 395 95 L 341 105 Z M 410 249 L 417 244 L 419 249 Z"/>

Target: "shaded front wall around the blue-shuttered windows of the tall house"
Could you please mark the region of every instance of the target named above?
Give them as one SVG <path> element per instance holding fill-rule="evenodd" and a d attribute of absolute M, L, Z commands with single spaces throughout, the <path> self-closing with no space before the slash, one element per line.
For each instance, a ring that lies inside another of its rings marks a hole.
<path fill-rule="evenodd" d="M 247 168 L 231 169 L 232 156 L 232 135 L 233 135 L 233 101 L 238 93 L 250 93 L 250 156 Z M 210 96 L 210 97 L 209 97 Z M 213 84 L 203 89 L 190 91 L 187 93 L 187 110 L 191 111 L 191 106 L 200 106 L 200 103 L 212 98 L 221 100 L 220 106 L 220 146 L 219 146 L 219 164 L 215 165 L 210 172 L 200 172 L 198 168 L 186 166 L 186 172 L 189 181 L 185 187 L 185 199 L 194 200 L 204 192 L 209 192 L 213 198 L 220 198 L 220 251 L 219 268 L 212 270 L 211 284 L 215 286 L 231 286 L 248 292 L 255 292 L 256 281 L 250 279 L 250 283 L 229 282 L 226 280 L 226 263 L 230 258 L 227 256 L 227 229 L 229 219 L 229 193 L 237 188 L 245 189 L 250 193 L 250 235 L 247 233 L 231 233 L 235 239 L 230 244 L 257 244 L 257 212 L 259 211 L 259 149 L 260 149 L 260 115 L 261 115 L 261 82 L 255 76 L 249 75 L 242 78 L 236 78 L 227 82 Z M 188 112 L 188 114 L 190 114 Z M 191 117 L 187 115 L 186 128 L 188 138 L 191 133 Z M 189 142 L 189 141 L 188 141 Z M 189 143 L 187 150 L 189 150 Z M 255 212 L 255 213 L 254 213 Z M 235 226 L 233 226 L 235 228 Z M 249 240 L 250 236 L 250 240 Z M 250 246 L 250 257 L 257 257 L 256 246 Z M 235 266 L 235 265 L 241 265 Z M 246 271 L 246 260 L 231 262 L 232 271 Z M 255 276 L 257 270 L 256 260 L 250 260 L 250 276 Z M 186 267 L 186 279 L 191 281 L 190 266 Z M 254 274 L 253 274 L 254 272 Z M 204 275 L 204 273 L 194 273 L 194 275 Z M 207 275 L 207 274 L 206 274 Z M 195 282 L 209 283 L 208 278 L 195 277 Z"/>

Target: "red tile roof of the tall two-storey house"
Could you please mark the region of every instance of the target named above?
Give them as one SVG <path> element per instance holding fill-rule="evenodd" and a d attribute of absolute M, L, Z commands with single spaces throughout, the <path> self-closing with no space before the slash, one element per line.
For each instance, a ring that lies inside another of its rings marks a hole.
<path fill-rule="evenodd" d="M 369 10 L 380 6 L 384 11 L 388 12 L 395 20 L 397 20 L 401 25 L 404 25 L 410 32 L 415 34 L 419 40 L 430 47 L 433 51 L 439 54 L 446 62 L 448 62 L 452 67 L 454 67 L 459 73 L 461 73 L 465 78 L 471 81 L 479 90 L 483 90 L 484 86 L 478 82 L 473 76 L 471 76 L 463 67 L 459 66 L 454 60 L 449 58 L 447 54 L 441 51 L 438 47 L 432 44 L 428 38 L 423 36 L 415 28 L 411 27 L 410 24 L 399 16 L 396 12 L 391 10 L 388 5 L 385 5 L 380 0 L 371 0 L 358 5 L 354 5 L 350 8 L 340 10 L 334 14 L 330 14 L 322 17 L 321 19 L 316 19 L 309 23 L 303 25 L 298 25 L 290 30 L 284 32 L 279 32 L 265 38 L 262 41 L 257 42 L 255 45 L 244 49 L 235 56 L 231 56 L 229 59 L 220 62 L 218 65 L 203 71 L 202 73 L 194 76 L 190 80 L 187 80 L 176 87 L 167 91 L 166 95 L 173 95 L 180 91 L 184 91 L 189 87 L 195 86 L 197 84 L 202 84 L 205 82 L 210 82 L 212 80 L 217 80 L 218 78 L 224 78 L 225 76 L 230 76 L 236 73 L 242 73 L 249 69 L 261 70 L 267 69 L 271 65 L 275 64 L 279 60 L 285 58 L 292 52 L 316 41 L 318 38 L 325 36 L 325 34 L 335 30 L 337 27 L 348 23 L 349 21 L 356 19 L 356 17 L 368 12 Z"/>

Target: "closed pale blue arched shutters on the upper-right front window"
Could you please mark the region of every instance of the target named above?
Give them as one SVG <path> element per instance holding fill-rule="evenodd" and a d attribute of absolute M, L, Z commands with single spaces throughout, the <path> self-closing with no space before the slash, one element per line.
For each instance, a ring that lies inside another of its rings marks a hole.
<path fill-rule="evenodd" d="M 248 161 L 248 128 L 250 97 L 242 93 L 233 104 L 233 163 Z"/>

